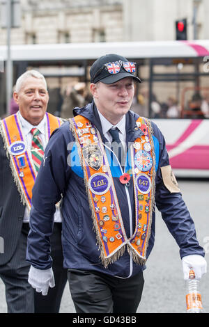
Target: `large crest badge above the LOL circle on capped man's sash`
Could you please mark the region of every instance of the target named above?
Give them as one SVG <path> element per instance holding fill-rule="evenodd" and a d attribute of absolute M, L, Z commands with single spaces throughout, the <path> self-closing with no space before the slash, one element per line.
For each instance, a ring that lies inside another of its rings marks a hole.
<path fill-rule="evenodd" d="M 84 159 L 88 166 L 95 170 L 99 170 L 102 166 L 102 151 L 98 144 L 85 145 L 82 149 Z"/>

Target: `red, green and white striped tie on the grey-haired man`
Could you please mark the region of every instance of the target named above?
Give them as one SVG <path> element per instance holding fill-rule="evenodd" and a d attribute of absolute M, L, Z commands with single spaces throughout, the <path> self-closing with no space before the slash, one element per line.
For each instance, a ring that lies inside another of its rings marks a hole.
<path fill-rule="evenodd" d="M 40 138 L 38 137 L 38 134 L 40 134 L 40 131 L 37 128 L 32 128 L 31 134 L 33 135 L 31 154 L 32 154 L 32 158 L 33 158 L 33 163 L 36 167 L 36 171 L 38 172 L 41 161 L 42 161 L 42 157 L 44 154 L 44 150 L 43 150 L 42 142 L 41 142 Z"/>

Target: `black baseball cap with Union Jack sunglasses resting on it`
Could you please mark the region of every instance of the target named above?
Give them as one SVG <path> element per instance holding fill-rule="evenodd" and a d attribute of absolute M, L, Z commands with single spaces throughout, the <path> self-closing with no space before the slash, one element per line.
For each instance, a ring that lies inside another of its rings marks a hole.
<path fill-rule="evenodd" d="M 120 79 L 125 79 L 125 77 L 132 77 L 135 81 L 141 83 L 141 79 L 139 79 L 137 76 L 134 76 L 134 73 L 127 72 L 123 65 L 118 74 L 109 74 L 106 69 L 102 69 L 105 63 L 114 63 L 117 61 L 127 62 L 128 60 L 123 56 L 119 56 L 118 54 L 106 54 L 105 56 L 98 58 L 91 66 L 91 83 L 97 83 L 98 81 L 101 81 L 104 84 L 112 84 L 116 81 L 120 81 Z"/>

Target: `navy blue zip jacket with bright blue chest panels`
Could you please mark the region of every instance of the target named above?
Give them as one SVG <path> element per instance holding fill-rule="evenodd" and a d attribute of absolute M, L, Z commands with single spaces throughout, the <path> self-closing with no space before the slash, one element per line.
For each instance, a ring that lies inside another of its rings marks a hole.
<path fill-rule="evenodd" d="M 107 142 L 102 135 L 100 118 L 93 103 L 88 104 L 85 108 L 76 109 L 75 114 L 83 115 L 93 122 L 100 131 L 102 141 Z M 136 128 L 138 117 L 139 115 L 132 111 L 126 114 L 127 143 L 133 142 L 142 133 L 141 129 Z M 162 212 L 162 218 L 176 239 L 180 247 L 181 257 L 191 254 L 204 255 L 203 248 L 199 246 L 196 239 L 194 222 L 181 193 L 170 193 L 164 186 L 160 167 L 169 165 L 169 157 L 160 129 L 153 122 L 152 127 L 156 156 L 155 201 L 157 209 Z M 107 154 L 108 151 L 106 149 Z M 111 156 L 108 155 L 107 157 Z M 119 177 L 122 175 L 121 168 L 111 165 L 111 162 L 109 163 L 125 232 L 127 237 L 130 237 L 135 229 L 132 179 L 128 188 L 121 184 L 119 182 Z M 130 167 L 126 166 L 126 171 L 129 169 Z M 65 122 L 52 134 L 45 150 L 45 160 L 42 162 L 33 187 L 31 231 L 28 237 L 26 260 L 38 269 L 48 269 L 52 266 L 49 237 L 52 234 L 55 203 L 61 199 L 63 264 L 65 268 L 100 271 L 122 278 L 130 277 L 144 269 L 143 266 L 132 261 L 127 250 L 119 260 L 109 264 L 108 268 L 102 266 L 85 191 L 84 173 L 79 163 L 75 138 L 70 131 L 69 122 Z M 155 213 L 153 213 L 147 257 L 153 248 L 154 238 Z"/>

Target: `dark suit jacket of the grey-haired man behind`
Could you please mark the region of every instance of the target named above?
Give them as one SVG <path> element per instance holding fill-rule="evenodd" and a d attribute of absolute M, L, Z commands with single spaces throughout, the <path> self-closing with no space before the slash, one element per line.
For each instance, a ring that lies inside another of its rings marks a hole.
<path fill-rule="evenodd" d="M 10 163 L 3 148 L 0 135 L 0 237 L 3 238 L 3 252 L 0 266 L 13 256 L 22 229 L 24 205 L 13 180 Z"/>

